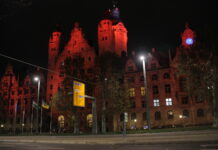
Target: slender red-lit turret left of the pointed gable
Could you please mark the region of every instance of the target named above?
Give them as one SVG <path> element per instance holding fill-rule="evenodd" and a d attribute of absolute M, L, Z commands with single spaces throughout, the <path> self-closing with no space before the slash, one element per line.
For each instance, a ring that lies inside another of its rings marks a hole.
<path fill-rule="evenodd" d="M 61 32 L 59 27 L 56 27 L 56 30 L 52 32 L 52 35 L 49 39 L 49 47 L 48 47 L 48 68 L 51 69 L 54 67 L 56 58 L 59 53 L 60 48 L 60 37 Z"/>

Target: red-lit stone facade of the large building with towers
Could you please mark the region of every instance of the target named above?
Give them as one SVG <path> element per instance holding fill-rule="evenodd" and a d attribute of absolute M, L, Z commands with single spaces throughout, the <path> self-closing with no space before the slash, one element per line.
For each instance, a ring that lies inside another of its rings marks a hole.
<path fill-rule="evenodd" d="M 95 59 L 105 52 L 113 52 L 118 56 L 126 56 L 125 79 L 129 83 L 129 94 L 132 100 L 131 111 L 128 112 L 128 129 L 143 129 L 146 127 L 146 101 L 143 82 L 142 65 L 135 54 L 127 56 L 127 29 L 120 21 L 119 9 L 114 7 L 108 10 L 98 24 L 98 54 L 94 47 L 84 38 L 84 33 L 76 23 L 72 29 L 67 44 L 61 48 L 61 31 L 57 28 L 52 32 L 48 45 L 48 69 L 46 86 L 42 88 L 42 97 L 50 103 L 52 97 L 63 88 L 65 60 L 67 58 L 81 57 L 84 61 L 82 71 L 86 80 L 95 78 Z M 188 26 L 181 35 L 181 46 L 177 48 L 176 54 L 161 53 L 155 49 L 149 53 L 147 61 L 147 83 L 150 103 L 150 117 L 152 127 L 174 127 L 181 125 L 200 125 L 212 123 L 211 104 L 207 100 L 196 101 L 190 99 L 185 92 L 185 78 L 178 77 L 177 58 L 182 48 L 189 48 L 186 40 L 195 40 L 195 33 Z M 31 103 L 36 100 L 37 84 L 32 81 L 33 74 L 27 75 L 23 82 L 15 76 L 12 66 L 7 66 L 5 74 L 0 83 L 0 119 L 9 124 L 11 129 L 14 124 L 14 112 L 16 104 L 19 105 L 19 113 L 16 116 L 16 128 L 21 128 L 22 111 L 25 110 L 25 124 L 30 124 Z M 43 76 L 42 76 L 43 78 Z M 44 91 L 45 89 L 45 91 Z M 95 89 L 97 91 L 97 89 Z M 101 101 L 100 99 L 98 101 Z M 86 104 L 84 111 L 86 115 L 91 109 Z M 100 109 L 100 108 L 99 108 Z M 54 120 L 61 115 L 54 111 Z M 5 114 L 5 115 L 3 115 Z M 6 117 L 5 117 L 6 116 Z M 19 119 L 18 119 L 19 118 Z M 84 116 L 82 126 L 86 126 L 87 117 Z M 123 125 L 121 114 L 113 116 L 112 123 L 108 126 L 110 130 L 120 131 Z M 54 121 L 55 122 L 55 121 Z M 100 121 L 99 121 L 100 122 Z M 99 125 L 100 126 L 100 125 Z M 85 128 L 83 128 L 85 129 Z"/>

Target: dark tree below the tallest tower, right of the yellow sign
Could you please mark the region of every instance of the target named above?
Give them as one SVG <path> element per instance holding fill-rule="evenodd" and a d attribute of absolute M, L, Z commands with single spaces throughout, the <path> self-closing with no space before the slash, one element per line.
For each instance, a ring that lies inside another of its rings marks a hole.
<path fill-rule="evenodd" d="M 101 95 L 101 129 L 106 132 L 106 116 L 127 109 L 129 97 L 124 82 L 125 58 L 115 53 L 104 53 L 96 59 L 98 85 Z M 107 104 L 107 105 L 106 105 Z"/>

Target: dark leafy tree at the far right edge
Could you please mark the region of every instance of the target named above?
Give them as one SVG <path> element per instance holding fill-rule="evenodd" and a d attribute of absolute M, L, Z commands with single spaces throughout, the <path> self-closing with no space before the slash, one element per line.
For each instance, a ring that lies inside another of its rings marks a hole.
<path fill-rule="evenodd" d="M 218 56 L 216 48 L 196 45 L 180 49 L 179 75 L 187 79 L 187 92 L 196 100 L 211 100 L 213 104 L 213 126 L 218 126 Z"/>

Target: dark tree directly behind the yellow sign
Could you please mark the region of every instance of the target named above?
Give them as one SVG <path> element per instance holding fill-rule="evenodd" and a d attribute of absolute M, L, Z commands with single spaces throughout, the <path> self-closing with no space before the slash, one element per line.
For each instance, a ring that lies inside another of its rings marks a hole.
<path fill-rule="evenodd" d="M 54 100 L 57 110 L 64 114 L 66 120 L 74 127 L 74 133 L 79 133 L 79 114 L 77 107 L 73 106 L 73 81 L 84 79 L 84 59 L 80 55 L 66 58 L 60 70 L 64 74 L 63 87 L 58 91 L 58 98 Z"/>

